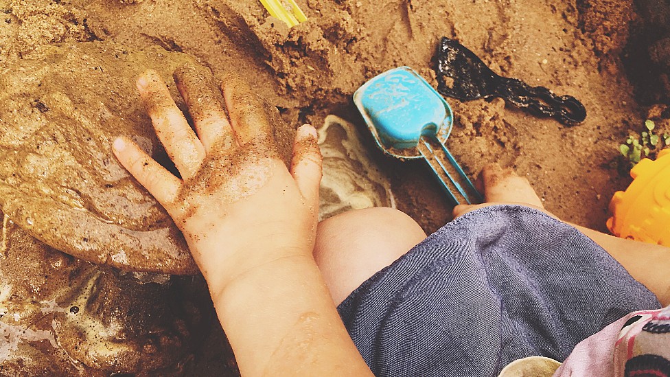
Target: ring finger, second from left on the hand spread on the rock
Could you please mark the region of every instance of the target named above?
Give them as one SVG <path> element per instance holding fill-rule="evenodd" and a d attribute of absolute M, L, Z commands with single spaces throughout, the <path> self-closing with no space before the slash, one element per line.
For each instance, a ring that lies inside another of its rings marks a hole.
<path fill-rule="evenodd" d="M 165 82 L 156 71 L 149 70 L 137 79 L 137 89 L 167 155 L 181 176 L 192 176 L 205 158 L 205 148 L 174 104 Z"/>

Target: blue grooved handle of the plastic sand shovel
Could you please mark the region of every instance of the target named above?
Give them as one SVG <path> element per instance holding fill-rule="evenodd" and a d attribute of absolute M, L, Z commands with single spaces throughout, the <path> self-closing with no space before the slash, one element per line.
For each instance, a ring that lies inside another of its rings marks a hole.
<path fill-rule="evenodd" d="M 432 137 L 422 136 L 417 149 L 442 183 L 454 205 L 483 202 L 481 194 L 444 144 Z"/>

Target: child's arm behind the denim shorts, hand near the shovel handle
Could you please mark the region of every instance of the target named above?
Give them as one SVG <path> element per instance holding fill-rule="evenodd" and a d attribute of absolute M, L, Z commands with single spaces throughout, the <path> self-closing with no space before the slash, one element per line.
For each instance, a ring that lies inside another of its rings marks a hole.
<path fill-rule="evenodd" d="M 528 180 L 512 170 L 502 170 L 496 164 L 487 165 L 479 175 L 476 185 L 479 190 L 483 190 L 487 203 L 459 205 L 454 208 L 454 217 L 494 204 L 526 205 L 556 217 L 544 209 Z M 624 240 L 579 225 L 570 225 L 612 255 L 634 279 L 651 290 L 663 306 L 670 304 L 670 248 Z"/>

